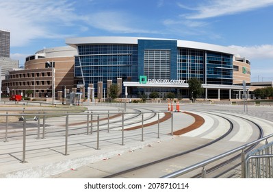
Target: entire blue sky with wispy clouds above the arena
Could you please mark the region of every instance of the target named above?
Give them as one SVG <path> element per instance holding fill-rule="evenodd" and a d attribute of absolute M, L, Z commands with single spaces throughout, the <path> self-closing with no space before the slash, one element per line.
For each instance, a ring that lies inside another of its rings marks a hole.
<path fill-rule="evenodd" d="M 252 82 L 273 81 L 273 0 L 0 0 L 10 57 L 66 46 L 66 38 L 139 36 L 233 47 Z"/>

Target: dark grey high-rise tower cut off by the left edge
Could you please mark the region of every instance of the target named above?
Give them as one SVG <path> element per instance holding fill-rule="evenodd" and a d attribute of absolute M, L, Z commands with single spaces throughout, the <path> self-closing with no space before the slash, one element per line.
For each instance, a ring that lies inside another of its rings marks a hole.
<path fill-rule="evenodd" d="M 10 58 L 10 32 L 0 30 L 0 57 Z"/>

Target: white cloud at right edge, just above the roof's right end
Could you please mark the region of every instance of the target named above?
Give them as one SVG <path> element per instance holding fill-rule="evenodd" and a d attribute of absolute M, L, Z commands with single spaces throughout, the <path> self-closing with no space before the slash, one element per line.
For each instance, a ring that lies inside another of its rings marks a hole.
<path fill-rule="evenodd" d="M 229 46 L 238 50 L 240 56 L 248 59 L 273 59 L 273 45 L 254 45 L 242 47 L 237 45 Z"/>

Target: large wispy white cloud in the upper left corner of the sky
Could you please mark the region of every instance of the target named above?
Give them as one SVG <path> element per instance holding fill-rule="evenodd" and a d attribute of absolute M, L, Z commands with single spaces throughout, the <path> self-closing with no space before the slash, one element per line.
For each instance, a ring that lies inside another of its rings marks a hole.
<path fill-rule="evenodd" d="M 54 38 L 53 24 L 70 25 L 79 19 L 66 0 L 0 1 L 1 27 L 11 32 L 11 46 L 23 46 L 35 38 Z"/>

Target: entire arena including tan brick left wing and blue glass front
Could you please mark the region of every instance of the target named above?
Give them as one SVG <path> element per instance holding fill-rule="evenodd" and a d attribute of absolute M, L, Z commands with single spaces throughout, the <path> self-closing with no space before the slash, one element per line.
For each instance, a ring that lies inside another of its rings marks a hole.
<path fill-rule="evenodd" d="M 161 98 L 169 92 L 189 98 L 192 77 L 203 83 L 203 99 L 241 99 L 243 84 L 250 88 L 250 62 L 230 47 L 117 36 L 66 38 L 66 44 L 27 57 L 25 69 L 10 71 L 2 90 L 25 95 L 32 89 L 34 97 L 50 97 L 53 88 L 57 93 L 66 86 L 83 97 L 88 93 L 102 99 L 111 84 L 118 84 L 120 97 L 157 91 Z"/>

